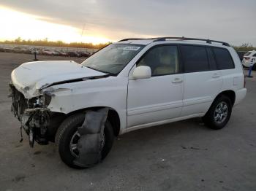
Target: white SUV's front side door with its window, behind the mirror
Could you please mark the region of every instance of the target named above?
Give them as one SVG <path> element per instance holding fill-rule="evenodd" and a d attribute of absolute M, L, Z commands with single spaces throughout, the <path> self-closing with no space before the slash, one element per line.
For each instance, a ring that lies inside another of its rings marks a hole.
<path fill-rule="evenodd" d="M 136 66 L 149 66 L 152 76 L 129 79 L 128 128 L 159 125 L 181 115 L 184 74 L 178 73 L 178 60 L 177 46 L 162 45 L 152 47 L 137 62 Z"/>

